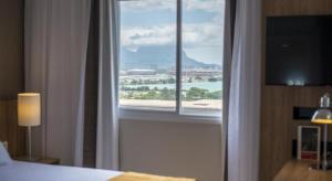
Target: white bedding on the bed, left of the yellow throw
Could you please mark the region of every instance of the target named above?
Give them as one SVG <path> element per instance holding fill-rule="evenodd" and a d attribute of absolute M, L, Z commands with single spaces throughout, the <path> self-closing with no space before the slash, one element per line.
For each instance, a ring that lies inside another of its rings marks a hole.
<path fill-rule="evenodd" d="M 122 172 L 13 161 L 0 166 L 0 181 L 107 181 Z"/>

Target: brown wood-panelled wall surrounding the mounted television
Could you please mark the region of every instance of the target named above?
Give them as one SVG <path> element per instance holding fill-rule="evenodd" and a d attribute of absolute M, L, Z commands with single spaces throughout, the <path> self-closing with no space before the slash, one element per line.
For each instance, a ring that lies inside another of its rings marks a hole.
<path fill-rule="evenodd" d="M 331 0 L 262 0 L 263 34 L 262 67 L 264 67 L 266 17 L 268 15 L 303 15 L 332 14 Z M 262 106 L 261 106 L 261 149 L 260 180 L 270 181 L 291 160 L 292 139 L 297 138 L 299 125 L 310 125 L 307 120 L 293 120 L 294 106 L 319 106 L 320 96 L 332 94 L 332 87 L 288 87 L 264 85 L 262 70 Z M 332 127 L 329 128 L 332 131 Z M 329 136 L 332 140 L 332 135 Z"/>

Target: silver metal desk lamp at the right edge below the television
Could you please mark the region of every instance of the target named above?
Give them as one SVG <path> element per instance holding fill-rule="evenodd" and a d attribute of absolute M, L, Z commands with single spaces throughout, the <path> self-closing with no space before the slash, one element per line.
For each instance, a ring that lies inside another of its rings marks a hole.
<path fill-rule="evenodd" d="M 332 124 L 332 111 L 330 109 L 329 94 L 324 94 L 324 96 L 321 97 L 320 108 L 313 114 L 311 123 L 324 125 L 323 160 L 313 168 L 319 170 L 330 170 L 332 167 L 328 162 L 328 125 Z"/>

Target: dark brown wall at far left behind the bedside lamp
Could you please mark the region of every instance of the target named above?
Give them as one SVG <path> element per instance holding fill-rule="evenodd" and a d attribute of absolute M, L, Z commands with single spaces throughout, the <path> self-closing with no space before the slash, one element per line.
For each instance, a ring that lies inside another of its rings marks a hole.
<path fill-rule="evenodd" d="M 23 89 L 23 0 L 0 0 L 0 140 L 12 156 L 25 153 L 18 127 L 17 93 Z"/>

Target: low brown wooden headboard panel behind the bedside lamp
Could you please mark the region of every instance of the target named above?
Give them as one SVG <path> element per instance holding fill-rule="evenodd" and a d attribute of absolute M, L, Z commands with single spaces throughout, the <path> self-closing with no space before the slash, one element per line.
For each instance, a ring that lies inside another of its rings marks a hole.
<path fill-rule="evenodd" d="M 0 100 L 0 140 L 13 157 L 25 153 L 25 129 L 18 126 L 17 100 Z"/>

